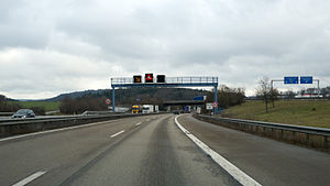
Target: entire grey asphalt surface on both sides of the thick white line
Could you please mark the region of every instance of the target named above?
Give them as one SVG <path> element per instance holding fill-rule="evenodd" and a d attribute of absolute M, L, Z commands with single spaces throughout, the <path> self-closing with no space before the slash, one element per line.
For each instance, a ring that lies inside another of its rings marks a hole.
<path fill-rule="evenodd" d="M 190 133 L 262 185 L 329 185 L 330 155 L 194 119 Z M 240 185 L 175 124 L 124 118 L 0 139 L 0 185 Z"/>

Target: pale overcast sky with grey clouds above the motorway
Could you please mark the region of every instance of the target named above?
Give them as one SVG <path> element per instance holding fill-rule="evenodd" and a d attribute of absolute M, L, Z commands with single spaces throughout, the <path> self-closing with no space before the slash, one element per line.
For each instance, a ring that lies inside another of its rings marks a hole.
<path fill-rule="evenodd" d="M 330 86 L 329 0 L 1 0 L 0 94 L 48 98 L 144 73 Z M 283 87 L 282 85 L 277 85 Z"/>

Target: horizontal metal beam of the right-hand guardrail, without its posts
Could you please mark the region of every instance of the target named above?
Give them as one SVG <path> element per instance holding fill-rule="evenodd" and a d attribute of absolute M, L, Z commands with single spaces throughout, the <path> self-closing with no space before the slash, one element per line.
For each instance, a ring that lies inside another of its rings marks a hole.
<path fill-rule="evenodd" d="M 323 135 L 330 136 L 330 129 L 326 128 L 314 128 L 314 127 L 304 127 L 304 125 L 295 125 L 295 124 L 283 124 L 283 123 L 272 123 L 272 122 L 264 122 L 264 121 L 253 121 L 253 120 L 242 120 L 242 119 L 232 119 L 232 118 L 217 118 L 217 117 L 209 117 L 209 116 L 198 116 L 205 119 L 218 120 L 222 122 L 232 122 L 232 123 L 242 123 L 249 125 L 257 125 L 271 129 L 278 129 L 292 132 L 301 132 L 307 134 L 315 134 L 315 135 Z"/>

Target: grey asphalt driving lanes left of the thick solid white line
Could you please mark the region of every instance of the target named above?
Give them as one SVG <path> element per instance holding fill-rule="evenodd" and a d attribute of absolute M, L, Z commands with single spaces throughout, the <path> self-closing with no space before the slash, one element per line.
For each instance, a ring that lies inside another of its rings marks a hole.
<path fill-rule="evenodd" d="M 125 118 L 0 140 L 0 185 L 239 185 L 174 123 Z"/>

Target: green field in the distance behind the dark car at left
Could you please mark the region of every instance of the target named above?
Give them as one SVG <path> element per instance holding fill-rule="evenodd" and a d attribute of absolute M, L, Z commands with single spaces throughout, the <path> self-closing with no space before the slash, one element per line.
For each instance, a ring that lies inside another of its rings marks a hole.
<path fill-rule="evenodd" d="M 24 109 L 32 107 L 43 107 L 45 111 L 59 110 L 59 101 L 9 101 L 21 105 Z"/>

